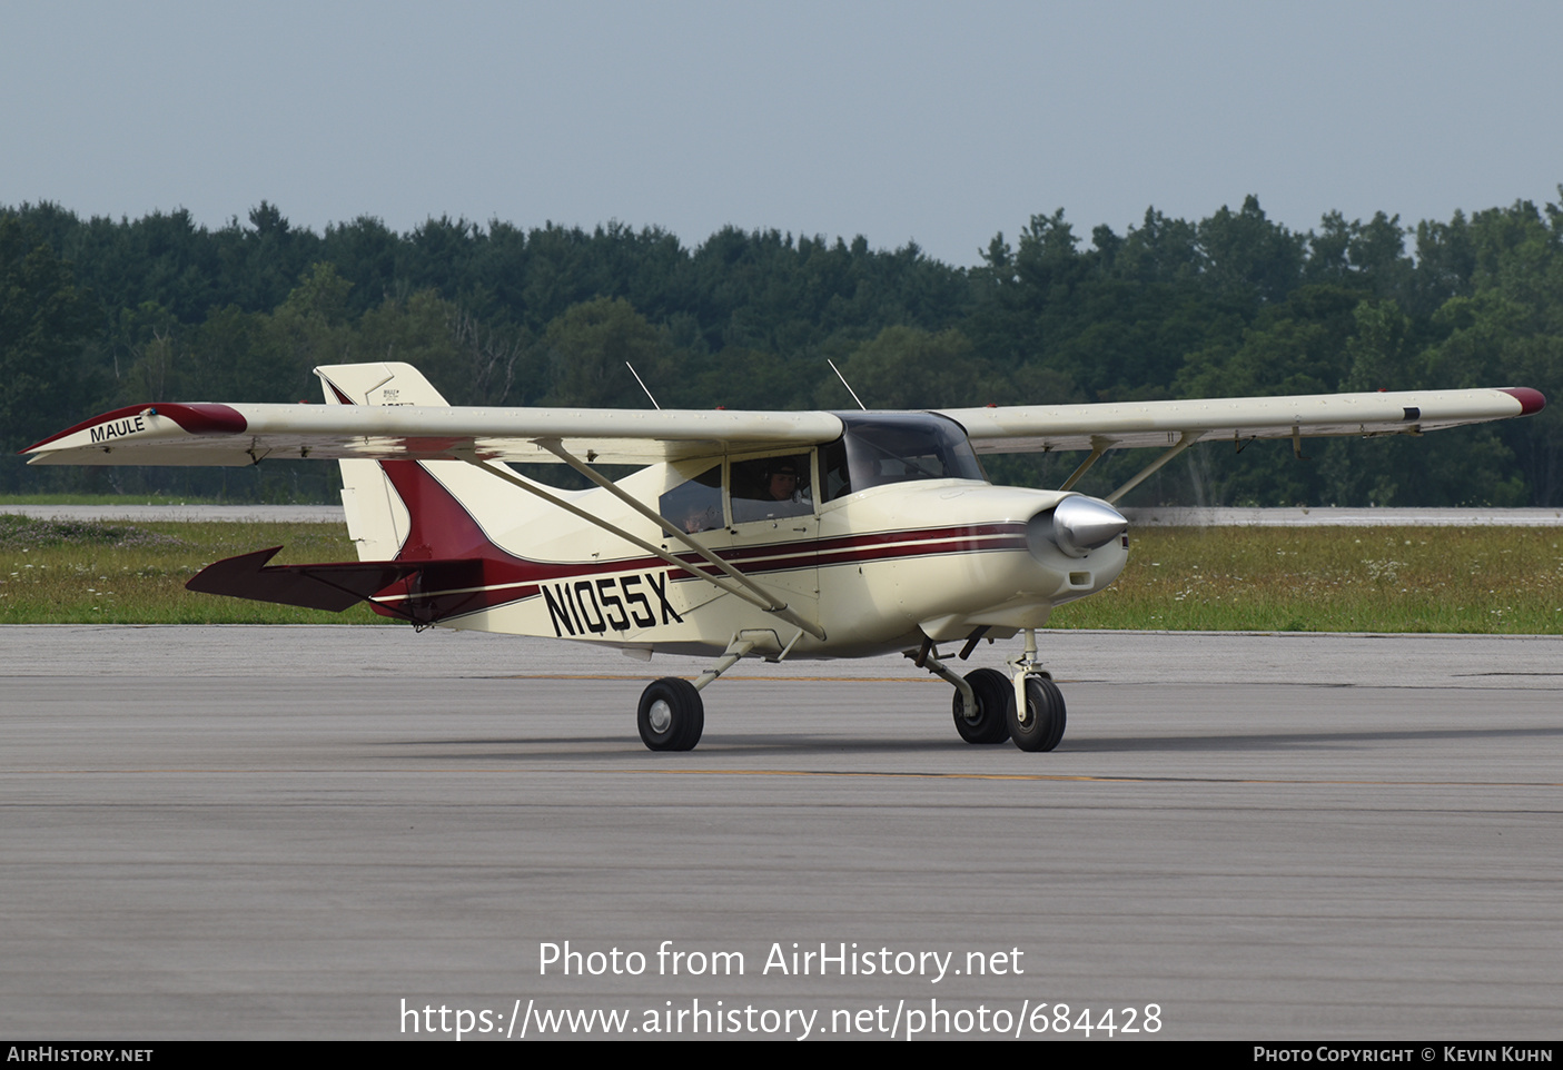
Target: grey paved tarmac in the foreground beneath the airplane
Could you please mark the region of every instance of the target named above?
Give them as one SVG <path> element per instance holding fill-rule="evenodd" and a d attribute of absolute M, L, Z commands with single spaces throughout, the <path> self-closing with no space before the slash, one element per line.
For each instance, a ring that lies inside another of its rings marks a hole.
<path fill-rule="evenodd" d="M 1041 645 L 1050 754 L 960 742 L 899 658 L 746 665 L 653 754 L 642 681 L 703 661 L 0 628 L 0 1031 L 1557 1036 L 1563 639 Z"/>

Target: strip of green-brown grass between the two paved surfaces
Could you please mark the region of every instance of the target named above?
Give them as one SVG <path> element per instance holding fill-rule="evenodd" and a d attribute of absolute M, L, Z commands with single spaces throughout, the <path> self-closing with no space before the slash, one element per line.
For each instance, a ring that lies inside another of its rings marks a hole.
<path fill-rule="evenodd" d="M 1563 633 L 1555 528 L 1144 528 L 1055 628 Z M 80 523 L 0 515 L 0 623 L 370 623 L 184 590 L 219 558 L 352 561 L 341 525 Z"/>

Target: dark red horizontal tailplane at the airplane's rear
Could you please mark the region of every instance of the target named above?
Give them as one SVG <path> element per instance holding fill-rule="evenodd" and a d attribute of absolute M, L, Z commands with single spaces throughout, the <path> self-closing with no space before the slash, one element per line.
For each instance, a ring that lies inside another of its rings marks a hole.
<path fill-rule="evenodd" d="M 449 583 L 458 573 L 481 573 L 483 562 L 458 561 L 345 561 L 314 565 L 267 565 L 281 547 L 256 550 L 255 553 L 227 558 L 206 565 L 184 586 L 208 595 L 230 595 L 253 601 L 277 601 L 305 609 L 328 609 L 341 612 L 384 590 L 399 580 L 420 576 L 425 572 L 441 573 Z M 416 594 L 405 609 L 395 615 L 419 619 Z M 422 623 L 422 620 L 420 620 Z"/>

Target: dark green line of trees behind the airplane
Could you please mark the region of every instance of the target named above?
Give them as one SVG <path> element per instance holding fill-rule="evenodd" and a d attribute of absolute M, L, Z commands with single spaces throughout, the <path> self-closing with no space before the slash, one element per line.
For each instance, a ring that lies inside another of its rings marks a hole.
<path fill-rule="evenodd" d="M 1563 203 L 1563 187 L 1560 187 Z M 1310 231 L 1255 197 L 1122 234 L 1060 209 L 971 269 L 724 228 L 359 217 L 324 233 L 261 203 L 83 219 L 0 206 L 0 436 L 8 453 L 150 400 L 319 400 L 316 364 L 397 359 L 456 405 L 844 409 L 1533 386 L 1563 369 L 1563 208 L 1518 202 L 1402 225 L 1325 216 Z M 1558 505 L 1563 417 L 1425 440 L 1207 444 L 1130 503 Z M 1110 455 L 1105 492 L 1149 456 Z M 1057 486 L 1078 461 L 993 458 L 996 481 Z M 0 490 L 334 495 L 334 465 L 244 472 L 0 465 Z"/>

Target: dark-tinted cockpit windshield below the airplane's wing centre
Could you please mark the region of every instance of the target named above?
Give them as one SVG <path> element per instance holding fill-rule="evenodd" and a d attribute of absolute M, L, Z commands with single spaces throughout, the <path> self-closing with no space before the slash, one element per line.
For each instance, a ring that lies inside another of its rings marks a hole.
<path fill-rule="evenodd" d="M 930 412 L 838 416 L 847 431 L 822 447 L 819 456 L 825 501 L 886 483 L 986 481 L 966 433 L 955 420 Z"/>

